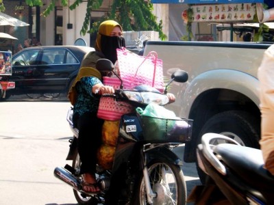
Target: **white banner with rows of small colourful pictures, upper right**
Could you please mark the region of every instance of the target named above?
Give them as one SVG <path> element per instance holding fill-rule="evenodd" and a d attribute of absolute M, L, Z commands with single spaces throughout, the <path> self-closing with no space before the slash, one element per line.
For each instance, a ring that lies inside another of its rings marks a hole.
<path fill-rule="evenodd" d="M 254 3 L 192 5 L 191 8 L 192 22 L 247 22 L 256 14 Z"/>

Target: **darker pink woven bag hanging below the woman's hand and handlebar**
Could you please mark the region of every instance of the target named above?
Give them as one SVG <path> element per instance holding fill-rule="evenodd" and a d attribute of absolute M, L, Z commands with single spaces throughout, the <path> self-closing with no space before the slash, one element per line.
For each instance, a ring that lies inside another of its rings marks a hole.
<path fill-rule="evenodd" d="M 103 84 L 119 89 L 121 81 L 117 77 L 103 77 Z M 127 86 L 124 83 L 124 87 Z M 120 120 L 122 115 L 132 111 L 133 107 L 127 102 L 117 102 L 114 98 L 101 97 L 97 117 L 103 120 Z"/>

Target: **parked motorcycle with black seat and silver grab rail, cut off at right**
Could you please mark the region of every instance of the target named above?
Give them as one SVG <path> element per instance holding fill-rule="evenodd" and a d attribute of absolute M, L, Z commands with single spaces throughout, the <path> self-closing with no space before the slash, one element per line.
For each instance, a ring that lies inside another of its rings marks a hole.
<path fill-rule="evenodd" d="M 206 133 L 197 148 L 207 182 L 188 197 L 195 204 L 273 204 L 274 176 L 264 169 L 262 151 L 224 135 Z"/>

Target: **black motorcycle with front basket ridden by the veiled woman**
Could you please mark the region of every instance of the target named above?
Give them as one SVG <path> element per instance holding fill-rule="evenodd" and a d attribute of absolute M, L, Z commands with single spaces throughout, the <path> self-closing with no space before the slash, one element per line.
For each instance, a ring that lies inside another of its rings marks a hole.
<path fill-rule="evenodd" d="M 97 69 L 101 72 L 114 72 L 112 62 L 107 59 L 97 61 Z M 177 70 L 172 74 L 168 85 L 172 81 L 183 83 L 187 80 L 188 74 Z M 147 85 L 139 85 L 134 90 L 123 90 L 122 80 L 121 88 L 115 94 L 101 97 L 112 97 L 117 102 L 128 102 L 134 108 L 142 109 L 149 102 L 158 105 L 169 102 L 166 94 Z M 101 186 L 101 193 L 90 194 L 82 190 L 82 176 L 79 175 L 81 161 L 76 146 L 78 131 L 73 127 L 72 114 L 73 109 L 67 116 L 74 135 L 67 160 L 73 160 L 73 165 L 56 167 L 54 175 L 73 187 L 79 204 L 186 203 L 186 182 L 180 168 L 182 161 L 172 149 L 190 140 L 192 120 L 151 118 L 139 115 L 136 111 L 123 115 L 112 169 L 104 170 L 97 165 L 96 178 Z M 161 136 L 158 136 L 159 129 Z"/>

